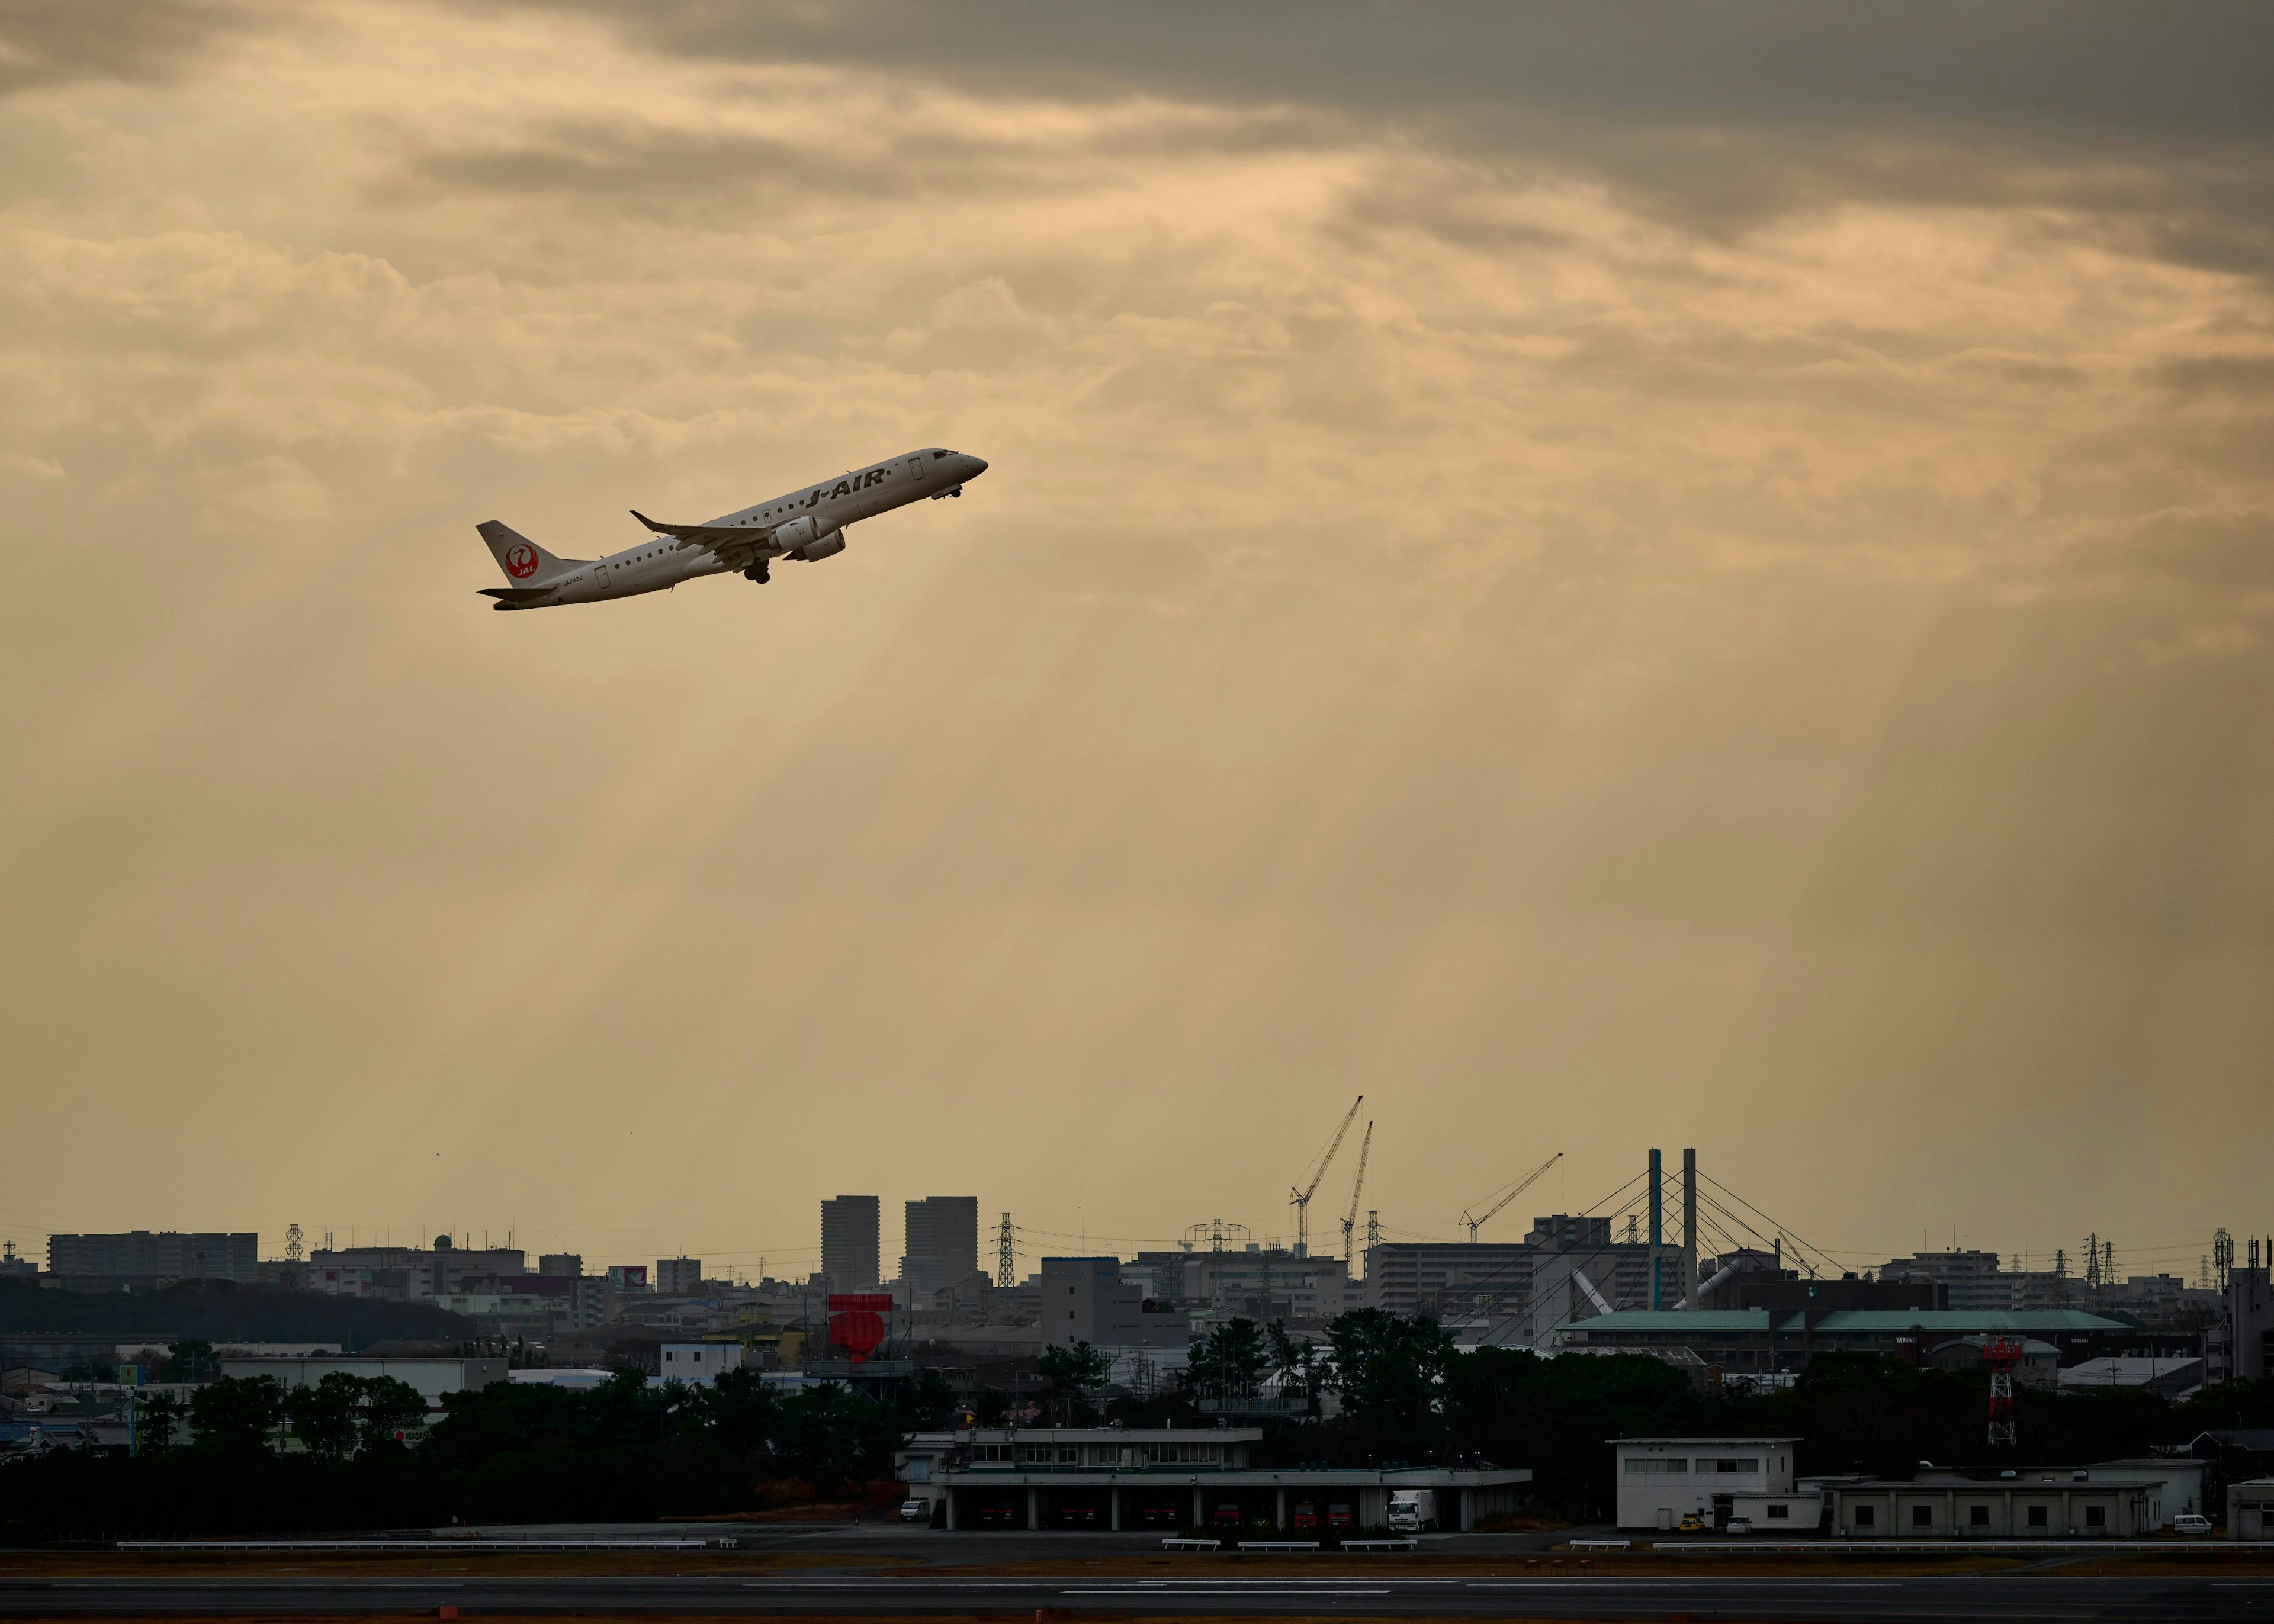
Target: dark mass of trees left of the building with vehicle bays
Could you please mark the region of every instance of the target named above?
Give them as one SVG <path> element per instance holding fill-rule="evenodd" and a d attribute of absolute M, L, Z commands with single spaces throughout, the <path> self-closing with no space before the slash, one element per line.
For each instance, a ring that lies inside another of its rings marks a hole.
<path fill-rule="evenodd" d="M 907 1433 L 944 1426 L 937 1372 L 891 1401 L 757 1372 L 707 1387 L 621 1372 L 589 1390 L 491 1383 L 425 1422 L 400 1381 L 284 1390 L 225 1378 L 186 1412 L 146 1399 L 139 1453 L 50 1449 L 0 1465 L 0 1540 L 68 1533 L 318 1533 L 453 1522 L 644 1522 L 841 1497 L 889 1478 Z M 423 1424 L 423 1428 L 421 1428 Z"/>

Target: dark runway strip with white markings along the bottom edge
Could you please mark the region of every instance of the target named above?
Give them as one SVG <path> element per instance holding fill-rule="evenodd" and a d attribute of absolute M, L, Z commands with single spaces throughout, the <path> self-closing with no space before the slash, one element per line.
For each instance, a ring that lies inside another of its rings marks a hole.
<path fill-rule="evenodd" d="M 1912 1619 L 2274 1619 L 2274 1579 L 2063 1579 L 1965 1574 L 1892 1579 L 1421 1579 L 1205 1574 L 1051 1576 L 146 1576 L 5 1579 L 0 1617 L 159 1615 L 1217 1615 L 1530 1617 L 1910 1624 Z"/>

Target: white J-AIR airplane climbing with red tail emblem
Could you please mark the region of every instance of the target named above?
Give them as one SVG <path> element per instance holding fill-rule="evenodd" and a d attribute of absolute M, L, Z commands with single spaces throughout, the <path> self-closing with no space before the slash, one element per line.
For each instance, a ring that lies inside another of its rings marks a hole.
<path fill-rule="evenodd" d="M 664 525 L 637 507 L 632 519 L 653 535 L 607 557 L 553 557 L 516 530 L 487 519 L 480 530 L 512 587 L 482 587 L 496 610 L 550 610 L 564 603 L 607 603 L 664 591 L 682 580 L 741 571 L 766 582 L 766 564 L 787 557 L 816 564 L 846 550 L 846 525 L 875 519 L 930 496 L 962 496 L 964 480 L 987 473 L 982 457 L 926 446 L 887 462 L 821 480 L 771 503 L 712 519 L 705 525 Z"/>

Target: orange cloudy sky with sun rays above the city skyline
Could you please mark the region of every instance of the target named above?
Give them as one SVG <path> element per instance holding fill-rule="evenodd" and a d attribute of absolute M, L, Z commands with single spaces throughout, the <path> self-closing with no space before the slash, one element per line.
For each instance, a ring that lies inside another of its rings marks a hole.
<path fill-rule="evenodd" d="M 0 18 L 32 1256 L 2274 1228 L 2263 7 Z"/>

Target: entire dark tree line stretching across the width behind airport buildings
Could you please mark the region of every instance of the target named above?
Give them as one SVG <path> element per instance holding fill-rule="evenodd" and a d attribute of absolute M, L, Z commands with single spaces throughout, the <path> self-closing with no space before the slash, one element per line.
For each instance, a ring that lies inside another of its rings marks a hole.
<path fill-rule="evenodd" d="M 1574 1522 L 1612 1508 L 1610 1440 L 1626 1435 L 1799 1437 L 1803 1474 L 1908 1476 L 1922 1460 L 1990 1458 L 1987 1376 L 1874 1353 L 1819 1353 L 1790 1390 L 1715 1399 L 1655 1358 L 1460 1351 L 1428 1317 L 1360 1310 L 1335 1319 L 1323 1342 L 1276 1324 L 1221 1324 L 1155 1394 L 1107 1397 L 1105 1374 L 1096 1349 L 1046 1351 L 1037 1419 L 1196 1426 L 1258 1410 L 1244 1401 L 1271 1390 L 1292 1403 L 1262 1422 L 1260 1467 L 1528 1467 L 1533 1508 Z M 216 1381 L 186 1415 L 146 1401 L 136 1458 L 55 1449 L 0 1465 L 0 1538 L 739 1513 L 785 1492 L 830 1499 L 887 1481 L 907 1433 L 1019 1412 L 1001 1390 L 962 1403 L 939 1372 L 889 1399 L 841 1385 L 780 1392 L 755 1372 L 709 1387 L 625 1372 L 594 1390 L 457 1392 L 421 1431 L 418 1397 L 393 1381 L 337 1374 L 293 1392 L 271 1378 Z M 2017 1463 L 2083 1465 L 2215 1426 L 2274 1426 L 2274 1381 L 2226 1383 L 2185 1403 L 2140 1387 L 2022 1387 L 2017 1419 Z"/>

